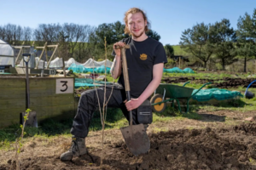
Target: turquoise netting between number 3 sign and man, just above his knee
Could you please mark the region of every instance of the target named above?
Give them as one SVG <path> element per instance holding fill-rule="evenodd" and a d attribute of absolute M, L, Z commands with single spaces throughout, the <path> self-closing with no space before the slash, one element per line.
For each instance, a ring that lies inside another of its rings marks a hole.
<path fill-rule="evenodd" d="M 96 84 L 94 84 L 93 82 L 95 82 Z M 90 78 L 75 78 L 75 88 L 79 88 L 79 87 L 94 87 L 94 86 L 102 86 L 104 85 L 105 82 L 103 81 L 93 81 L 93 79 Z M 112 84 L 112 82 L 106 82 L 106 84 Z"/>

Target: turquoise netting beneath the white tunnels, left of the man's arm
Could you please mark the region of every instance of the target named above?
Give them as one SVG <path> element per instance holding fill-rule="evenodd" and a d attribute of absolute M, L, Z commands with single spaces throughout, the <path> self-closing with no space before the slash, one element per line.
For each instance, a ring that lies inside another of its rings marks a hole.
<path fill-rule="evenodd" d="M 99 67 L 96 67 L 96 68 L 92 69 L 92 68 L 86 68 L 86 67 L 84 67 L 84 65 L 76 65 L 76 64 L 73 63 L 72 65 L 70 65 L 68 67 L 67 70 L 68 71 L 72 70 L 75 73 L 87 73 L 87 72 L 90 72 L 90 73 L 92 73 L 92 72 L 105 73 L 105 66 L 102 65 L 102 66 L 99 66 Z M 107 70 L 107 73 L 109 74 L 110 73 L 110 68 L 107 67 L 106 70 Z"/>

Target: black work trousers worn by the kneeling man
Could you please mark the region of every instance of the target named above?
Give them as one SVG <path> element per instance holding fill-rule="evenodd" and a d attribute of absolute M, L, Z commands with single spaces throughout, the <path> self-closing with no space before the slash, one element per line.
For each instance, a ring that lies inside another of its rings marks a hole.
<path fill-rule="evenodd" d="M 109 99 L 111 89 L 111 87 L 106 88 L 106 100 Z M 96 111 L 96 108 L 99 107 L 97 95 L 99 96 L 100 106 L 102 107 L 104 91 L 104 87 L 94 88 L 81 94 L 78 111 L 73 120 L 73 127 L 71 128 L 71 133 L 73 135 L 80 138 L 85 138 L 88 135 L 91 118 Z M 115 84 L 113 94 L 108 101 L 108 107 L 120 108 L 126 119 L 129 121 L 130 116 L 129 111 L 127 111 L 125 107 L 125 99 L 126 94 L 124 88 L 119 84 Z M 132 120 L 132 124 L 139 124 L 139 122 L 137 122 L 137 110 L 132 111 Z"/>

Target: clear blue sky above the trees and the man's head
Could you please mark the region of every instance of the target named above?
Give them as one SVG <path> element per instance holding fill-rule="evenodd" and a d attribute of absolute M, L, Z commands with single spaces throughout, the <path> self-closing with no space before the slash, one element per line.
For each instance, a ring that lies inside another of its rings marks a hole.
<path fill-rule="evenodd" d="M 177 45 L 182 31 L 197 23 L 213 24 L 252 15 L 255 0 L 0 0 L 0 26 L 15 24 L 33 29 L 39 24 L 74 23 L 99 26 L 121 21 L 129 8 L 142 8 L 151 29 L 160 34 L 160 42 Z"/>

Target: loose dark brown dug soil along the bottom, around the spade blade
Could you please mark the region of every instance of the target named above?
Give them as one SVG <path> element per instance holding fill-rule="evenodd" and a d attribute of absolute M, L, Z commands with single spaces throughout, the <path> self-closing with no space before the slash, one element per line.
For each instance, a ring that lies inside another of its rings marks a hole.
<path fill-rule="evenodd" d="M 256 169 L 256 123 L 230 128 L 179 129 L 149 134 L 150 151 L 133 156 L 120 140 L 109 142 L 100 167 L 102 150 L 61 162 L 59 155 L 27 156 L 22 169 Z M 12 160 L 0 169 L 15 169 Z"/>

